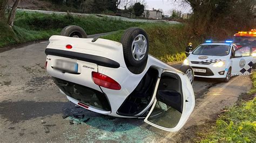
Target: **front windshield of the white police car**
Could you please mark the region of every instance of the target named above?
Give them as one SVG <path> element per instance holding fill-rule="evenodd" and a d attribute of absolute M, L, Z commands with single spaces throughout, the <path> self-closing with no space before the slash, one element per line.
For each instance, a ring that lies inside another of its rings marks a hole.
<path fill-rule="evenodd" d="M 213 56 L 225 56 L 230 52 L 230 46 L 225 45 L 200 45 L 192 54 L 194 55 L 213 55 Z"/>

